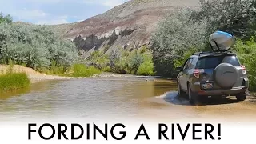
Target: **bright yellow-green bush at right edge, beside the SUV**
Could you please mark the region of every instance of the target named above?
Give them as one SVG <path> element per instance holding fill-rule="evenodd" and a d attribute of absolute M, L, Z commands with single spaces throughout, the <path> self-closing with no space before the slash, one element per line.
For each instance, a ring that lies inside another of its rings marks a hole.
<path fill-rule="evenodd" d="M 247 42 L 238 40 L 235 45 L 235 50 L 242 65 L 246 66 L 250 80 L 250 90 L 256 91 L 256 42 L 254 38 Z"/>

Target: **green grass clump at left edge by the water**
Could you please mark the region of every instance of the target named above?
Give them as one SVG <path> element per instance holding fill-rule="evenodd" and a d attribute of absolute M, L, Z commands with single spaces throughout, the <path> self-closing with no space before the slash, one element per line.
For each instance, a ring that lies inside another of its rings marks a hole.
<path fill-rule="evenodd" d="M 12 91 L 30 86 L 30 79 L 25 73 L 10 73 L 0 75 L 0 91 Z"/>

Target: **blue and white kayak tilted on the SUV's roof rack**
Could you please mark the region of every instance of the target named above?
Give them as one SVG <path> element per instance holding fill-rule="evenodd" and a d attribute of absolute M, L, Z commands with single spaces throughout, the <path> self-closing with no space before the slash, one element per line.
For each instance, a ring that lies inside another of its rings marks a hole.
<path fill-rule="evenodd" d="M 210 46 L 214 51 L 227 51 L 234 45 L 234 36 L 224 31 L 215 31 L 209 38 Z"/>

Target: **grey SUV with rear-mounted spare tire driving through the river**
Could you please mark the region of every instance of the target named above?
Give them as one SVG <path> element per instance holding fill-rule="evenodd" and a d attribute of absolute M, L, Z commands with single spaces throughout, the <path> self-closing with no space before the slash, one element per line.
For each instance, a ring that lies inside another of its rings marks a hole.
<path fill-rule="evenodd" d="M 190 103 L 208 96 L 236 96 L 246 100 L 249 87 L 246 67 L 232 52 L 200 52 L 190 56 L 177 77 L 178 94 L 188 94 Z"/>

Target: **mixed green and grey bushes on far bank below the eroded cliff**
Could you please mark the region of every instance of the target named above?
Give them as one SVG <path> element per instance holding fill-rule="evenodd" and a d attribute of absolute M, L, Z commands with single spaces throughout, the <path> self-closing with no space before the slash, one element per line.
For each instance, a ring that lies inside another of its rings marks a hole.
<path fill-rule="evenodd" d="M 94 51 L 90 54 L 87 58 L 89 66 L 118 74 L 154 75 L 152 52 L 146 46 L 132 52 L 115 49 L 110 51 L 110 54 L 104 54 L 104 51 Z"/>

